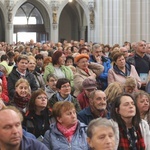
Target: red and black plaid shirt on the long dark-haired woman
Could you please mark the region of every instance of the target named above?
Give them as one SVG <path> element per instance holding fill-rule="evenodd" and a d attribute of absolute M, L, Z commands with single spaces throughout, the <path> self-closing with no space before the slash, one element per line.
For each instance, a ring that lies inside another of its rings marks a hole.
<path fill-rule="evenodd" d="M 125 131 L 123 128 L 119 127 L 120 141 L 118 150 L 145 150 L 145 143 L 141 134 L 140 127 L 138 128 L 138 130 L 135 130 L 135 132 L 137 140 L 133 140 L 136 140 L 136 147 L 132 146 L 131 140 L 128 137 L 128 132 Z"/>

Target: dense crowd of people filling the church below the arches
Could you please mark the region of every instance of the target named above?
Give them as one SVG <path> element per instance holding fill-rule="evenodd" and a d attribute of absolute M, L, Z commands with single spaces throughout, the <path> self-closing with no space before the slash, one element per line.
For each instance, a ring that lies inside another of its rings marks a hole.
<path fill-rule="evenodd" d="M 0 149 L 150 150 L 149 45 L 0 42 Z"/>

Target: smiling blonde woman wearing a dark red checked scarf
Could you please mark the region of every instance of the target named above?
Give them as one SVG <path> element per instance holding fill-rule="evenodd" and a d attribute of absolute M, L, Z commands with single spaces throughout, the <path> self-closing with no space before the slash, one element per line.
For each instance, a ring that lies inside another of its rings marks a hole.
<path fill-rule="evenodd" d="M 31 97 L 31 88 L 28 80 L 20 78 L 15 84 L 15 94 L 10 103 L 25 113 Z"/>

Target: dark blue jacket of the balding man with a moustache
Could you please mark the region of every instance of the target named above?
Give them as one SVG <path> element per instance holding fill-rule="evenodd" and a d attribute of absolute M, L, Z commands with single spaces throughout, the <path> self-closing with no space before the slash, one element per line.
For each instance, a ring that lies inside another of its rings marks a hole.
<path fill-rule="evenodd" d="M 107 119 L 110 119 L 110 114 L 107 113 L 106 116 Z M 78 119 L 85 123 L 86 125 L 88 125 L 90 123 L 90 121 L 92 121 L 93 119 L 95 119 L 95 117 L 93 116 L 92 112 L 91 112 L 91 108 L 90 107 L 86 107 L 83 110 L 81 110 L 78 113 Z"/>

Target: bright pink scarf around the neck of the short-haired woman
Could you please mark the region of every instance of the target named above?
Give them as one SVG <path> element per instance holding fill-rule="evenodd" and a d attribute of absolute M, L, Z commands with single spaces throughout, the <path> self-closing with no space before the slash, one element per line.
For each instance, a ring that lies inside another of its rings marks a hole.
<path fill-rule="evenodd" d="M 68 142 L 71 142 L 71 139 L 76 131 L 77 125 L 78 123 L 75 123 L 71 128 L 67 129 L 60 123 L 57 123 L 57 128 L 67 138 Z"/>

